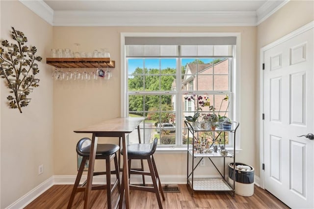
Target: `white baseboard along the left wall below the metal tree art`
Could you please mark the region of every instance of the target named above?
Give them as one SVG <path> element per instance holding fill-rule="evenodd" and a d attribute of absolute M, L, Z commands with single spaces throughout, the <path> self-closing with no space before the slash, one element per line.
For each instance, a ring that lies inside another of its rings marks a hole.
<path fill-rule="evenodd" d="M 45 182 L 39 184 L 29 192 L 27 192 L 23 197 L 9 205 L 6 209 L 21 209 L 25 208 L 29 203 L 35 200 L 39 195 L 44 193 L 47 189 L 52 187 L 54 184 L 53 176 L 47 179 Z"/>

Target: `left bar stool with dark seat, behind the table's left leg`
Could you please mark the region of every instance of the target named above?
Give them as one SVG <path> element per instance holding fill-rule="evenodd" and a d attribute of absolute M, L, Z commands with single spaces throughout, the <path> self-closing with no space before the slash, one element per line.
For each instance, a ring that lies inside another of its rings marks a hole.
<path fill-rule="evenodd" d="M 71 193 L 71 197 L 68 203 L 68 209 L 71 209 L 73 200 L 75 197 L 76 192 L 85 192 L 86 188 L 86 181 L 82 183 L 79 187 L 79 181 L 82 177 L 82 173 L 84 170 L 85 163 L 89 159 L 90 156 L 90 146 L 91 146 L 91 139 L 90 138 L 82 138 L 78 141 L 77 144 L 77 153 L 79 156 L 83 157 L 82 161 L 80 163 L 79 169 L 78 169 L 78 175 L 75 180 L 73 190 Z M 118 192 L 120 194 L 121 188 L 120 188 L 120 179 L 119 179 L 119 167 L 118 167 L 118 160 L 117 160 L 117 151 L 119 150 L 119 146 L 116 144 L 97 144 L 97 151 L 96 151 L 96 159 L 105 159 L 106 164 L 106 171 L 102 172 L 94 172 L 93 176 L 97 175 L 106 175 L 106 185 L 93 185 L 92 190 L 97 189 L 106 189 L 107 190 L 107 206 L 108 209 L 111 209 L 111 194 L 115 187 L 118 187 Z M 111 171 L 110 169 L 110 161 L 111 159 L 114 159 L 114 165 L 115 170 Z M 114 182 L 113 186 L 111 187 L 111 175 L 110 174 L 116 174 L 116 181 Z M 118 201 L 117 201 L 118 203 Z"/>

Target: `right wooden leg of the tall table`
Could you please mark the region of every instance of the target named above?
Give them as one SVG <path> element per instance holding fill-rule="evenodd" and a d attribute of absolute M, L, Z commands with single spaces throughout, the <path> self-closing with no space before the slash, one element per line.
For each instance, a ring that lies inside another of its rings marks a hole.
<path fill-rule="evenodd" d="M 122 147 L 123 147 L 123 181 L 126 197 L 126 209 L 130 208 L 130 186 L 129 186 L 129 163 L 128 163 L 128 149 L 126 142 L 126 134 L 122 135 Z M 122 196 L 123 197 L 123 196 Z"/>

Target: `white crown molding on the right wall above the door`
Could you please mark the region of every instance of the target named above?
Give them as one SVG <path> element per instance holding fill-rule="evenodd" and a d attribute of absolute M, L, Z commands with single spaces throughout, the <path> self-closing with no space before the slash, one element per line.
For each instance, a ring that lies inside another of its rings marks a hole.
<path fill-rule="evenodd" d="M 257 23 L 256 25 L 260 25 L 263 21 L 277 12 L 280 8 L 286 5 L 290 0 L 280 1 L 266 1 L 258 10 L 256 10 L 257 15 Z"/>

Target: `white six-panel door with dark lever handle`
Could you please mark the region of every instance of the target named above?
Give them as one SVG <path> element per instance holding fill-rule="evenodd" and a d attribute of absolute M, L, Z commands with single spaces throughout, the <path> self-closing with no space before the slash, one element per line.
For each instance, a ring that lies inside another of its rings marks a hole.
<path fill-rule="evenodd" d="M 314 32 L 264 51 L 264 187 L 290 208 L 314 208 Z"/>

